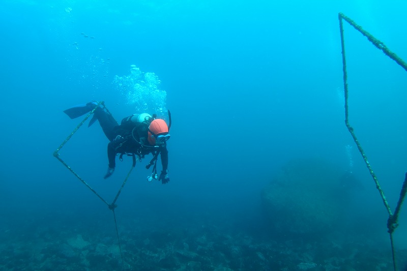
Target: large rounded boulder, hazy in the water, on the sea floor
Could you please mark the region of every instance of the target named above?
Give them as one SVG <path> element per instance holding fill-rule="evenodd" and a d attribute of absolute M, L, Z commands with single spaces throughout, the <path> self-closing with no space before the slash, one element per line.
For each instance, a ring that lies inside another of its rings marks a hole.
<path fill-rule="evenodd" d="M 323 160 L 288 162 L 265 187 L 261 200 L 271 230 L 323 234 L 341 227 L 350 176 Z"/>

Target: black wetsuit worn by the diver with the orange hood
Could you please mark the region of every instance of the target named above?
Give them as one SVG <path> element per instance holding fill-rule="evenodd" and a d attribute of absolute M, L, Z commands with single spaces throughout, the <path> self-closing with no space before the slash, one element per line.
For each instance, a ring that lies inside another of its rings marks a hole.
<path fill-rule="evenodd" d="M 117 154 L 138 154 L 144 156 L 159 150 L 162 170 L 166 171 L 168 169 L 168 150 L 166 142 L 159 147 L 151 146 L 147 140 L 147 125 L 140 125 L 133 131 L 134 125 L 119 125 L 110 114 L 101 108 L 97 108 L 94 113 L 98 118 L 103 132 L 110 141 L 107 144 L 109 168 L 115 168 L 115 158 Z M 134 133 L 132 134 L 132 132 Z"/>

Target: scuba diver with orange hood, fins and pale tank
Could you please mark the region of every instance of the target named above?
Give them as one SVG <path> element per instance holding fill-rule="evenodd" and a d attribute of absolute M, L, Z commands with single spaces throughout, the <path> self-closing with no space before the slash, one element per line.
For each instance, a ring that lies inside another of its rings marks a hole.
<path fill-rule="evenodd" d="M 97 108 L 95 109 L 95 107 Z M 171 126 L 171 114 L 169 110 L 168 126 L 163 119 L 156 118 L 155 114 L 151 116 L 148 113 L 133 114 L 125 117 L 119 125 L 113 116 L 109 112 L 106 112 L 104 105 L 97 102 L 77 105 L 64 112 L 73 119 L 89 113 L 94 109 L 94 115 L 89 122 L 88 127 L 98 120 L 104 134 L 110 141 L 107 144 L 107 158 L 109 165 L 106 175 L 104 176 L 105 179 L 113 174 L 116 166 L 115 158 L 118 154 L 120 154 L 120 160 L 123 161 L 123 155 L 137 156 L 141 159 L 152 153 L 153 159 L 146 167 L 149 168 L 151 165 L 154 165 L 153 173 L 151 177 L 148 177 L 149 182 L 151 182 L 153 178 L 158 178 L 162 184 L 169 182 L 168 150 L 166 142 L 170 137 L 168 134 Z M 161 174 L 157 176 L 156 161 L 159 154 L 161 154 L 162 171 Z"/>

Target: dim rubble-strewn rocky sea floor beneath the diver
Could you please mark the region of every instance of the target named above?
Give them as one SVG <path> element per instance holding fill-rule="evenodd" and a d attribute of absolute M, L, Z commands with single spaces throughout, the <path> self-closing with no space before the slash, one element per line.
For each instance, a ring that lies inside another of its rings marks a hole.
<path fill-rule="evenodd" d="M 10 230 L 8 233 L 13 233 Z M 123 270 L 117 239 L 108 230 L 65 228 L 1 236 L 2 270 Z M 364 236 L 332 239 L 257 236 L 201 224 L 121 232 L 125 270 L 391 270 L 390 251 Z M 309 236 L 308 236 L 309 237 Z M 368 243 L 368 244 L 367 244 Z M 399 255 L 407 255 L 407 251 Z M 399 259 L 406 262 L 407 257 Z"/>

